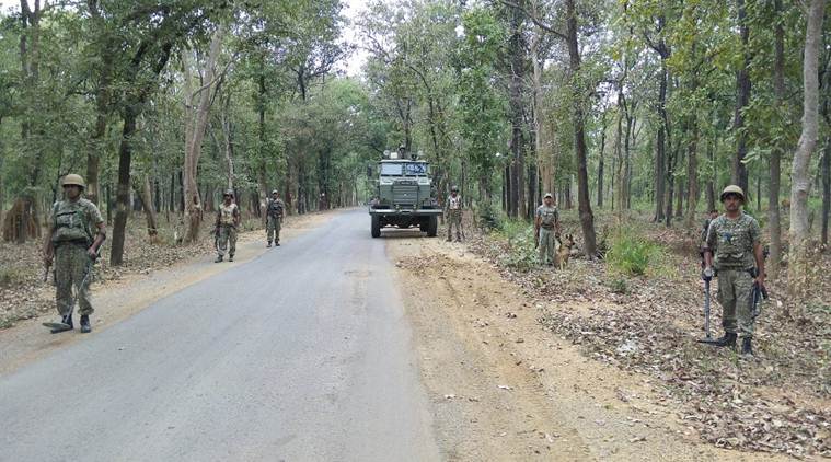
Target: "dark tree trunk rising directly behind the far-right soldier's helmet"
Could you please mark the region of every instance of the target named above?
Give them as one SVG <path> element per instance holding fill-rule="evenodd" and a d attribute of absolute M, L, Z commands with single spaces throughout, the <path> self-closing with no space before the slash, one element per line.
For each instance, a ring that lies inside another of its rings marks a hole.
<path fill-rule="evenodd" d="M 734 132 L 736 134 L 736 155 L 732 158 L 732 171 L 730 181 L 739 185 L 745 194 L 748 193 L 748 168 L 743 160 L 748 153 L 747 135 L 745 134 L 745 115 L 742 111 L 750 104 L 750 27 L 748 26 L 745 0 L 736 0 L 738 10 L 739 34 L 741 36 L 741 51 L 743 55 L 741 68 L 736 74 L 736 114 L 734 117 Z"/>

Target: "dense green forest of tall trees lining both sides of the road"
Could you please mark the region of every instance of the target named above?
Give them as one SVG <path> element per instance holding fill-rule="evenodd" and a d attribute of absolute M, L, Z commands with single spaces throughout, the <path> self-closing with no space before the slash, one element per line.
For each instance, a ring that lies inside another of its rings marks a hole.
<path fill-rule="evenodd" d="M 363 203 L 403 143 L 476 221 L 553 193 L 589 257 L 601 210 L 697 232 L 737 184 L 798 293 L 828 244 L 824 3 L 21 0 L 0 13 L 3 239 L 37 239 L 80 173 L 117 266 L 127 227 L 194 242 L 227 188 L 249 217 L 272 189 L 291 213 Z"/>

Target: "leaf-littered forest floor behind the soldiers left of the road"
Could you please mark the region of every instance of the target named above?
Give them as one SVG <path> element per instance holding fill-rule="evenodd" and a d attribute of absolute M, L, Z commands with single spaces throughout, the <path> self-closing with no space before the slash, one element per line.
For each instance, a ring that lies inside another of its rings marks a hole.
<path fill-rule="evenodd" d="M 242 228 L 251 230 L 257 226 L 258 220 L 254 219 L 247 220 Z M 142 216 L 134 213 L 127 224 L 124 264 L 118 267 L 109 265 L 109 240 L 105 241 L 93 272 L 96 285 L 128 275 L 149 274 L 186 258 L 213 253 L 211 223 L 204 223 L 200 240 L 194 245 L 176 244 L 176 231 L 181 229 L 181 223 L 168 222 L 160 216 L 159 239 L 157 243 L 149 243 Z M 112 236 L 112 230 L 109 234 Z M 41 246 L 41 240 L 25 244 L 0 242 L 0 328 L 55 311 L 55 287 L 43 280 Z"/>

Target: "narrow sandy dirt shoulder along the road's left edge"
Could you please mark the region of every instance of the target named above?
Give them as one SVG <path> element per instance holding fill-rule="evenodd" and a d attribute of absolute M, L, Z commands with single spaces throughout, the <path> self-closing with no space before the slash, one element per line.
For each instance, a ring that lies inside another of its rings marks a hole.
<path fill-rule="evenodd" d="M 314 229 L 332 218 L 332 212 L 292 216 L 287 219 L 280 241 L 289 243 L 296 236 Z M 106 330 L 149 307 L 154 301 L 169 297 L 193 284 L 199 282 L 233 266 L 242 265 L 265 252 L 279 252 L 279 247 L 266 249 L 265 231 L 255 230 L 241 233 L 236 241 L 233 263 L 215 264 L 212 256 L 200 256 L 180 262 L 168 268 L 126 275 L 104 285 L 92 285 L 93 333 Z M 21 321 L 14 327 L 0 331 L 0 376 L 9 374 L 28 361 L 48 353 L 79 342 L 83 336 L 73 331 L 51 335 L 41 323 L 54 321 L 56 314 Z"/>

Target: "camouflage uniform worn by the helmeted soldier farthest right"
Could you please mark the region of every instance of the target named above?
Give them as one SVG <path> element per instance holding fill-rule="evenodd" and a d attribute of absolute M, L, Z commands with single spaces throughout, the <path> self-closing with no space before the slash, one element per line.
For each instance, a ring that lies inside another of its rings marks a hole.
<path fill-rule="evenodd" d="M 753 336 L 750 307 L 755 268 L 753 245 L 761 236 L 759 222 L 747 213 L 731 220 L 722 215 L 709 223 L 706 245 L 715 250 L 713 266 L 718 270 L 718 302 L 724 309 L 722 325 L 726 333 Z"/>

